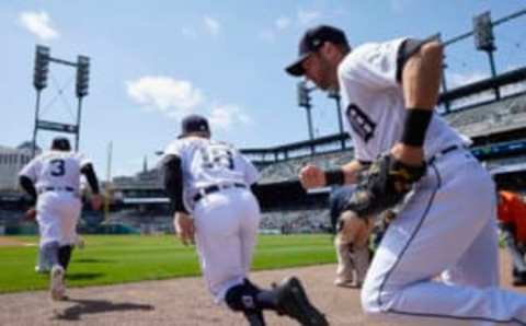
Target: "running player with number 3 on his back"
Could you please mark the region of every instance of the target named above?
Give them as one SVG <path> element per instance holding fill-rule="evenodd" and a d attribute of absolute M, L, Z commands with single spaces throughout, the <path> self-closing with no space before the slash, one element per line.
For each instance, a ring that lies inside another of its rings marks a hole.
<path fill-rule="evenodd" d="M 93 209 L 99 209 L 102 197 L 93 165 L 82 154 L 71 152 L 67 138 L 55 138 L 50 151 L 34 158 L 19 173 L 21 187 L 36 202 L 27 214 L 36 214 L 39 247 L 52 265 L 49 292 L 53 300 L 67 299 L 64 278 L 78 236 L 81 174 L 91 186 Z"/>

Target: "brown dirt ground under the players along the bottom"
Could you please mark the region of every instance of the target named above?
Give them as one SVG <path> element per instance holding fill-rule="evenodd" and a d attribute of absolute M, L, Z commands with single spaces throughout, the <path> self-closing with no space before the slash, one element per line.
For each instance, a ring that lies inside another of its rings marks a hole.
<path fill-rule="evenodd" d="M 508 257 L 502 256 L 503 286 L 511 288 Z M 331 325 L 375 325 L 366 321 L 356 289 L 332 284 L 334 265 L 254 272 L 264 286 L 296 275 Z M 526 293 L 526 289 L 515 289 Z M 71 289 L 68 302 L 53 303 L 45 291 L 0 295 L 0 325 L 247 325 L 244 319 L 211 302 L 201 278 Z M 297 325 L 266 314 L 268 325 Z"/>

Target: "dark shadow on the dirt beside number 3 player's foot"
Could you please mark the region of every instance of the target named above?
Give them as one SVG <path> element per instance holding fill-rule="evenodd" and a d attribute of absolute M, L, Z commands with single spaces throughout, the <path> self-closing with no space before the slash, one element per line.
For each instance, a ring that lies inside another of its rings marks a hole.
<path fill-rule="evenodd" d="M 67 302 L 73 302 L 75 305 L 67 307 L 61 313 L 57 313 L 54 319 L 80 321 L 81 316 L 87 314 L 100 314 L 122 311 L 152 311 L 155 308 L 150 304 L 137 304 L 129 302 L 116 303 L 107 300 L 69 299 Z"/>

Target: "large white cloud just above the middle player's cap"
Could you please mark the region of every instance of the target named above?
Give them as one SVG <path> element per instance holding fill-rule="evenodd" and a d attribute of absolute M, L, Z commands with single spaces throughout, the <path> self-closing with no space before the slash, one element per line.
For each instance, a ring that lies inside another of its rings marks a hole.
<path fill-rule="evenodd" d="M 170 117 L 193 112 L 204 103 L 203 92 L 191 82 L 169 77 L 142 77 L 126 83 L 128 95 L 147 109 L 165 113 Z"/>

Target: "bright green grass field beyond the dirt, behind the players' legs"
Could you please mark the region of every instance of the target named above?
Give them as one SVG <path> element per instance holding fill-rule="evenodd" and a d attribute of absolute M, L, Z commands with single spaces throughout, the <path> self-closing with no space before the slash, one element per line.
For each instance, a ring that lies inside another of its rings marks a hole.
<path fill-rule="evenodd" d="M 12 237 L 36 244 L 36 237 Z M 194 247 L 173 235 L 91 235 L 73 252 L 68 287 L 115 284 L 198 276 Z M 48 276 L 34 271 L 36 246 L 0 246 L 0 293 L 46 289 Z M 253 270 L 335 261 L 330 235 L 260 235 Z"/>

